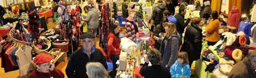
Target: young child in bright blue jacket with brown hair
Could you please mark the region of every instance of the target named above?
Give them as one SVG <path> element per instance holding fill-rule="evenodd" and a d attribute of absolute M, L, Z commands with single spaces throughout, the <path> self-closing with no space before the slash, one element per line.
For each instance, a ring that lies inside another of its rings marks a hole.
<path fill-rule="evenodd" d="M 183 51 L 178 55 L 178 60 L 170 67 L 170 75 L 172 78 L 190 78 L 191 70 L 186 52 Z"/>

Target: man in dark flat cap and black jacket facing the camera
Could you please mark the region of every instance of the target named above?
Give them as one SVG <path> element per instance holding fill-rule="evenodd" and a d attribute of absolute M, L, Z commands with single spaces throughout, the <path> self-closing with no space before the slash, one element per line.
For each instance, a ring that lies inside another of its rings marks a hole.
<path fill-rule="evenodd" d="M 99 49 L 93 47 L 93 34 L 83 34 L 79 37 L 82 39 L 82 48 L 76 50 L 67 63 L 66 75 L 69 78 L 88 78 L 86 74 L 86 64 L 88 62 L 100 62 L 107 69 L 107 63 L 104 55 Z"/>

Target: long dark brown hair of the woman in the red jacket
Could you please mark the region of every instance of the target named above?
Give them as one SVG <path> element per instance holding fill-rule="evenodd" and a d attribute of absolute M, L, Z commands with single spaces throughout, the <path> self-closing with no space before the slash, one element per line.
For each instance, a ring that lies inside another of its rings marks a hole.
<path fill-rule="evenodd" d="M 116 34 L 116 32 L 115 32 L 115 29 L 116 29 L 118 26 L 119 26 L 118 23 L 112 23 L 112 24 L 110 25 L 110 27 L 109 27 L 109 32 L 112 32 L 112 33 L 116 36 L 117 41 L 120 43 L 120 42 L 121 42 L 121 38 L 119 37 L 120 32 L 117 32 L 117 34 Z"/>

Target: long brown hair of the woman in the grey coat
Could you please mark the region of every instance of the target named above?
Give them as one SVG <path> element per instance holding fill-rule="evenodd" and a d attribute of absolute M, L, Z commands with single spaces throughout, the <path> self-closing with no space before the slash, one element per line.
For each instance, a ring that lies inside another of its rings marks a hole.
<path fill-rule="evenodd" d="M 170 28 L 170 31 L 169 32 L 166 32 L 166 37 L 168 38 L 170 35 L 172 35 L 174 32 L 177 31 L 176 27 L 175 27 L 175 24 L 174 23 L 167 23 L 165 25 L 165 27 L 169 27 Z"/>

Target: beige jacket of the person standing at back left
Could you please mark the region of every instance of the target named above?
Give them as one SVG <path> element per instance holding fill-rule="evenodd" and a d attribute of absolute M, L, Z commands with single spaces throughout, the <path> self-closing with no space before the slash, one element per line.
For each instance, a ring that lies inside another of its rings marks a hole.
<path fill-rule="evenodd" d="M 83 21 L 87 22 L 88 25 L 88 29 L 96 29 L 99 27 L 99 12 L 98 10 L 92 8 L 89 10 L 86 19 L 84 19 Z"/>

